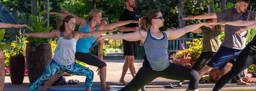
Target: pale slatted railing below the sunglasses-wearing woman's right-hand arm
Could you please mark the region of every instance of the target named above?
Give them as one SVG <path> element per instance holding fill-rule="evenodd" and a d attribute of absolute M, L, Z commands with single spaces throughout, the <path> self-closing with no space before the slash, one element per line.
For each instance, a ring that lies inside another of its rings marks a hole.
<path fill-rule="evenodd" d="M 176 49 L 177 50 L 181 49 L 181 44 L 186 44 L 186 41 L 192 42 L 193 39 L 200 39 L 200 38 L 178 38 L 178 39 L 169 40 L 169 53 L 176 52 Z"/>

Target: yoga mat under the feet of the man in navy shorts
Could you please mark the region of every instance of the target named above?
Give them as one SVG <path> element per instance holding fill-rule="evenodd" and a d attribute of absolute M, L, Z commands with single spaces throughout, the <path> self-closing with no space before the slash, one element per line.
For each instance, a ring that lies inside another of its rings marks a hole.
<path fill-rule="evenodd" d="M 223 87 L 247 87 L 247 86 L 256 86 L 255 83 L 250 83 L 251 85 L 236 85 L 236 83 L 226 83 Z M 177 85 L 173 85 L 170 83 L 171 87 L 174 89 L 188 88 L 188 84 L 182 85 L 182 87 L 177 87 Z M 214 87 L 215 84 L 199 84 L 198 88 L 211 88 Z"/>

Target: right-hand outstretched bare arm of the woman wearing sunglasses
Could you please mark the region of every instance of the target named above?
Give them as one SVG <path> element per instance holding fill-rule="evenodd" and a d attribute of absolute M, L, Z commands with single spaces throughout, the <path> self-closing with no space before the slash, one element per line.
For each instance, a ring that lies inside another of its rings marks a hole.
<path fill-rule="evenodd" d="M 201 27 L 203 25 L 206 27 L 212 28 L 210 25 L 213 25 L 213 24 L 216 24 L 216 23 L 206 23 L 206 22 L 198 23 L 198 24 L 188 25 L 186 27 L 183 27 L 181 29 L 176 29 L 174 31 L 164 31 L 164 33 L 166 33 L 168 40 L 177 39 L 177 38 L 181 37 L 182 35 L 184 35 L 185 33 L 188 33 L 190 31 L 198 29 L 199 27 Z"/>

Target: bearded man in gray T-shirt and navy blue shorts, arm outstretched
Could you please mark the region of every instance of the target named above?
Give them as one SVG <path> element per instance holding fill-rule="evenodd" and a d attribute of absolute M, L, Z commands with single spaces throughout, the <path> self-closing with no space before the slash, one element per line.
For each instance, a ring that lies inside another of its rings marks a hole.
<path fill-rule="evenodd" d="M 256 12 L 246 10 L 249 3 L 250 0 L 237 0 L 236 8 L 225 9 L 217 13 L 207 13 L 194 17 L 185 17 L 183 19 L 218 18 L 219 21 L 255 20 Z M 235 32 L 240 28 L 244 27 L 225 25 L 225 38 L 222 41 L 222 45 L 210 62 L 208 62 L 208 64 L 198 72 L 199 79 L 201 79 L 206 72 L 212 70 L 213 68 L 222 70 L 230 60 L 236 60 L 242 49 L 245 48 L 247 36 L 247 32 L 235 34 Z M 242 81 L 240 74 L 238 74 L 238 77 L 239 79 L 237 79 L 237 85 L 250 85 L 249 83 Z"/>

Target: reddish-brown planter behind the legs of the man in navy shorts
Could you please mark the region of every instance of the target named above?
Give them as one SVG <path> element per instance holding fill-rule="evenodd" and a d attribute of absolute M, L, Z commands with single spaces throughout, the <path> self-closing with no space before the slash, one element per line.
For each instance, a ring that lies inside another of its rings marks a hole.
<path fill-rule="evenodd" d="M 225 75 L 226 73 L 228 73 L 231 68 L 232 68 L 232 64 L 231 63 L 228 63 L 223 70 L 218 70 L 218 69 L 212 69 L 210 71 L 210 77 L 213 81 L 213 83 L 216 83 L 220 77 L 222 77 L 223 75 Z M 245 77 L 247 76 L 247 68 L 244 70 L 244 75 Z M 236 77 L 235 77 L 236 78 Z"/>

